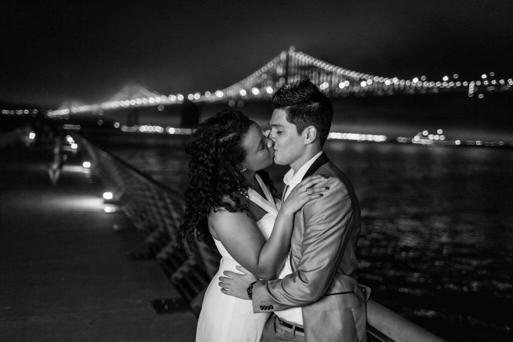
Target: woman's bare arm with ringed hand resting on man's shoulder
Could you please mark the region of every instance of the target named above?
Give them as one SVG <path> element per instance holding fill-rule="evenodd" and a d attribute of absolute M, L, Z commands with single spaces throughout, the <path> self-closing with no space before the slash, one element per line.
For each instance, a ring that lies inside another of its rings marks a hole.
<path fill-rule="evenodd" d="M 290 249 L 294 213 L 305 203 L 322 196 L 320 192 L 327 189 L 313 186 L 325 179 L 323 176 L 308 177 L 294 188 L 278 212 L 267 241 L 247 212 L 212 211 L 208 217 L 209 225 L 242 267 L 261 279 L 275 279 Z"/>

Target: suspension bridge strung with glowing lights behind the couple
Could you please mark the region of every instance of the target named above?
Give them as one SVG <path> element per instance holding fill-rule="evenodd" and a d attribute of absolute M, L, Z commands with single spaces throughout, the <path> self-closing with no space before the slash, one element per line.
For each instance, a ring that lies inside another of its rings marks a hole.
<path fill-rule="evenodd" d="M 65 107 L 47 112 L 48 117 L 69 118 L 69 115 L 84 112 L 98 112 L 118 108 L 180 104 L 186 99 L 191 102 L 228 102 L 228 105 L 242 107 L 244 100 L 270 98 L 272 93 L 285 82 L 310 78 L 321 91 L 332 96 L 396 94 L 396 93 L 439 93 L 442 91 L 466 91 L 469 97 L 494 91 L 508 91 L 513 87 L 512 78 L 495 77 L 494 72 L 484 73 L 477 81 L 460 81 L 457 73 L 445 75 L 440 81 L 428 81 L 425 75 L 403 79 L 383 77 L 345 69 L 306 53 L 290 48 L 274 57 L 263 67 L 229 87 L 205 91 L 162 95 L 141 88 L 140 94 L 117 94 L 111 100 L 93 105 Z M 150 94 L 150 96 L 147 96 Z"/>

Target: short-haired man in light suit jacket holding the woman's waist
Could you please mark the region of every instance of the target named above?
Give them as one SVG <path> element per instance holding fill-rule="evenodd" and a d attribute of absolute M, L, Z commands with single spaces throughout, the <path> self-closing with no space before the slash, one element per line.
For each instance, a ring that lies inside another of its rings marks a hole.
<path fill-rule="evenodd" d="M 274 162 L 291 168 L 284 176 L 284 199 L 315 174 L 329 177 L 329 191 L 295 213 L 291 274 L 257 281 L 251 274 L 227 271 L 220 277 L 221 291 L 251 299 L 255 313 L 273 312 L 262 340 L 365 341 L 370 291 L 362 290 L 353 274 L 360 206 L 347 177 L 322 151 L 333 106 L 308 79 L 280 88 L 272 105 Z"/>

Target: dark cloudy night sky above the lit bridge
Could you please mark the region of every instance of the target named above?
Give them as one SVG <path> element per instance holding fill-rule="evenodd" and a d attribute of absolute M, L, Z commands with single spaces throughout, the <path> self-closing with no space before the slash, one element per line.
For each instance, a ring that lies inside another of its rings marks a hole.
<path fill-rule="evenodd" d="M 3 1 L 0 101 L 224 88 L 289 46 L 338 66 L 438 81 L 513 76 L 511 1 Z"/>

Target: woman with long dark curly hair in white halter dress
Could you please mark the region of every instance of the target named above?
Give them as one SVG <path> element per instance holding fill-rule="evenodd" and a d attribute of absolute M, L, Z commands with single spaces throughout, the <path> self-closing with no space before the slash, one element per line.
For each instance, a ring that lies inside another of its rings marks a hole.
<path fill-rule="evenodd" d="M 259 341 L 268 313 L 253 313 L 251 301 L 224 295 L 217 279 L 236 265 L 261 279 L 290 273 L 286 262 L 293 216 L 321 197 L 327 179 L 307 177 L 281 204 L 264 168 L 272 164 L 273 142 L 240 112 L 218 113 L 203 122 L 188 147 L 186 212 L 179 235 L 195 235 L 222 255 L 205 293 L 196 341 Z M 240 272 L 239 272 L 240 273 Z"/>

